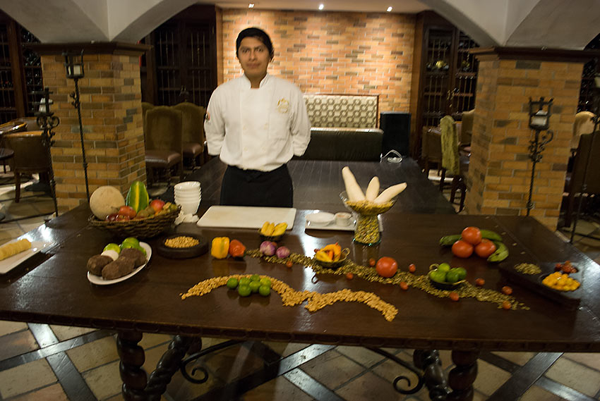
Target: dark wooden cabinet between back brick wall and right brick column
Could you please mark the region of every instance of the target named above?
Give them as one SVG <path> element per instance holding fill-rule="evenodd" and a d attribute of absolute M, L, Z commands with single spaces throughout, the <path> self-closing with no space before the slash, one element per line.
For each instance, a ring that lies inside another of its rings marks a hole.
<path fill-rule="evenodd" d="M 436 126 L 446 115 L 460 121 L 475 106 L 477 64 L 469 49 L 477 44 L 432 11 L 416 18 L 411 113 L 411 156 L 421 154 L 424 126 Z"/>

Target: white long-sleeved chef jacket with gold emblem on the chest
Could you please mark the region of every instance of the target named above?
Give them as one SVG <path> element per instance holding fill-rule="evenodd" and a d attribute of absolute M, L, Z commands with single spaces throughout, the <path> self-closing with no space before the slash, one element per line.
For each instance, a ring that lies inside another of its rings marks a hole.
<path fill-rule="evenodd" d="M 311 123 L 302 92 L 267 74 L 251 89 L 246 75 L 212 92 L 204 122 L 208 154 L 229 166 L 272 171 L 304 154 Z"/>

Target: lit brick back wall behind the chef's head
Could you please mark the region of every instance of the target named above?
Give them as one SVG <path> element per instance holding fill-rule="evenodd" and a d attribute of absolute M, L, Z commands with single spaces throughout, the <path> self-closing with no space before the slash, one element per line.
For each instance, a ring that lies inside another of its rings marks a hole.
<path fill-rule="evenodd" d="M 241 75 L 235 40 L 265 30 L 275 47 L 269 73 L 305 93 L 379 94 L 380 111 L 409 111 L 412 15 L 224 9 L 224 80 Z"/>

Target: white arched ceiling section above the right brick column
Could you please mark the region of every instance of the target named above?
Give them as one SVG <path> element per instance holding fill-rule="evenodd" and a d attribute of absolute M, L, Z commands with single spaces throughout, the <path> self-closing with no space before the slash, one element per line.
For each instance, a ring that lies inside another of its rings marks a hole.
<path fill-rule="evenodd" d="M 600 0 L 421 0 L 481 47 L 583 49 L 600 33 Z"/>

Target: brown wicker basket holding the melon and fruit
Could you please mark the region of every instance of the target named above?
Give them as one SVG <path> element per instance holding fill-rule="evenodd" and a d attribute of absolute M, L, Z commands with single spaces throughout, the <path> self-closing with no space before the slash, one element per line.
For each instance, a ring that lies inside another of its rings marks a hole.
<path fill-rule="evenodd" d="M 150 238 L 167 230 L 179 215 L 180 210 L 181 206 L 178 206 L 176 210 L 164 214 L 157 214 L 141 220 L 126 221 L 104 221 L 92 214 L 88 218 L 88 222 L 90 223 L 90 226 L 102 228 L 102 230 L 110 231 L 114 235 L 122 237 Z"/>

